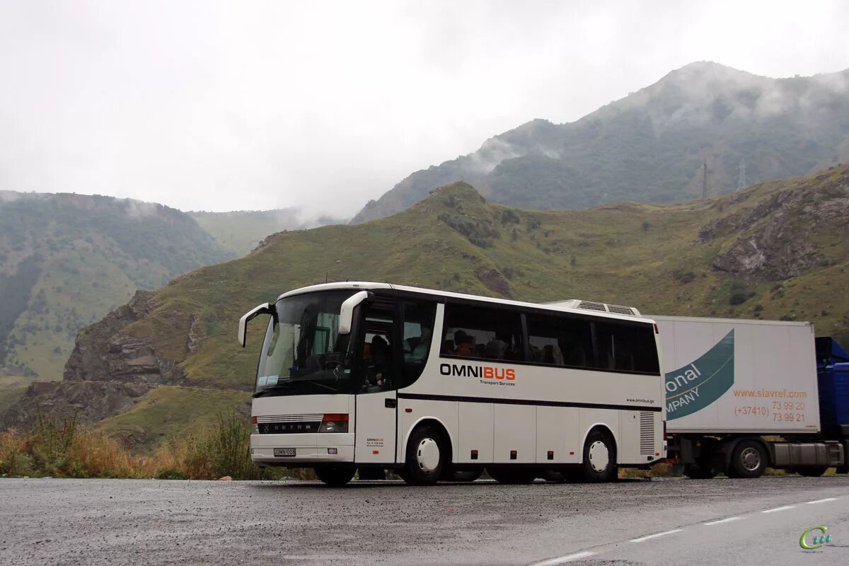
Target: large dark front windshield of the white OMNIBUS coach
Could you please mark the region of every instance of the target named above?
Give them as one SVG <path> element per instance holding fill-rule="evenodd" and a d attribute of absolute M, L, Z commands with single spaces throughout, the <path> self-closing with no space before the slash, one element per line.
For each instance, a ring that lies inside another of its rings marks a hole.
<path fill-rule="evenodd" d="M 298 294 L 277 301 L 256 371 L 254 396 L 353 393 L 350 334 L 339 333 L 342 302 L 356 291 Z"/>

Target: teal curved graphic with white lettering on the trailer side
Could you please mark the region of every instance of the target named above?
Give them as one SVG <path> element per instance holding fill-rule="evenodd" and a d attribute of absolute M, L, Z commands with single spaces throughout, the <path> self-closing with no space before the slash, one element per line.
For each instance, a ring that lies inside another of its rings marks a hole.
<path fill-rule="evenodd" d="M 666 420 L 692 415 L 734 385 L 734 328 L 697 360 L 666 373 Z"/>

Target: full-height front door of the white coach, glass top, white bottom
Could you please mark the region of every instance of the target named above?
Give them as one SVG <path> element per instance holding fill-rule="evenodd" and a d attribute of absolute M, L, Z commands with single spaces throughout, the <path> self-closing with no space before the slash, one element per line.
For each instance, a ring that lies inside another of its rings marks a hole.
<path fill-rule="evenodd" d="M 395 300 L 376 297 L 363 305 L 362 387 L 357 394 L 354 461 L 395 463 L 398 333 Z"/>

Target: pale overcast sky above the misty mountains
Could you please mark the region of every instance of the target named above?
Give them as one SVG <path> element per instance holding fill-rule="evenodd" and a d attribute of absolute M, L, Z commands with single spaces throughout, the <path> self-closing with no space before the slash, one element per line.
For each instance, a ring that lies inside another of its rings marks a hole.
<path fill-rule="evenodd" d="M 0 189 L 352 216 L 712 60 L 849 67 L 849 3 L 0 0 Z"/>

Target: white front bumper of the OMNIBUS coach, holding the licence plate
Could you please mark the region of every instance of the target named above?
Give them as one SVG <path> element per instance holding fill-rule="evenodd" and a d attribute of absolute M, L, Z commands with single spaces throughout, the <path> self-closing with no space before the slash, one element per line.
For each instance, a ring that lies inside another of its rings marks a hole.
<path fill-rule="evenodd" d="M 278 455 L 275 456 L 275 453 Z M 286 454 L 286 456 L 282 456 Z M 251 434 L 250 459 L 260 466 L 311 467 L 354 461 L 354 434 Z"/>

